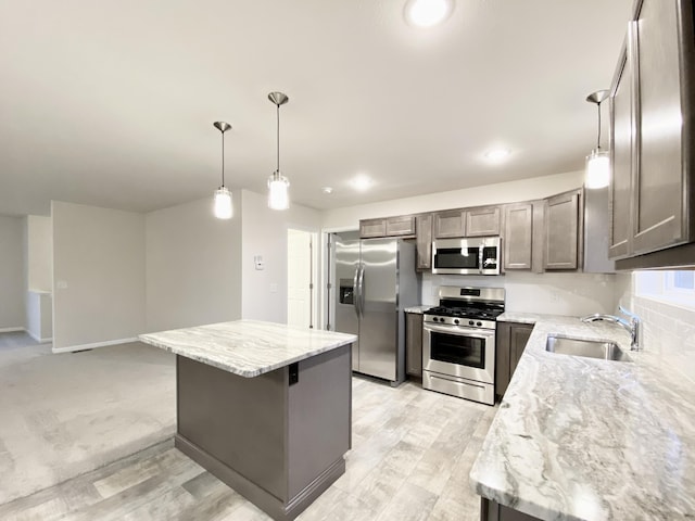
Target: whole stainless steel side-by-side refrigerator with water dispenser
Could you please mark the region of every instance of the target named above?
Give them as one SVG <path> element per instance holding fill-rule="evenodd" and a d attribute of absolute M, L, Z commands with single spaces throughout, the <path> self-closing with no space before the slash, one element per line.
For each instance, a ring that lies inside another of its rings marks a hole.
<path fill-rule="evenodd" d="M 334 266 L 334 330 L 357 334 L 355 372 L 405 380 L 405 314 L 420 300 L 415 244 L 403 239 L 331 237 Z"/>

